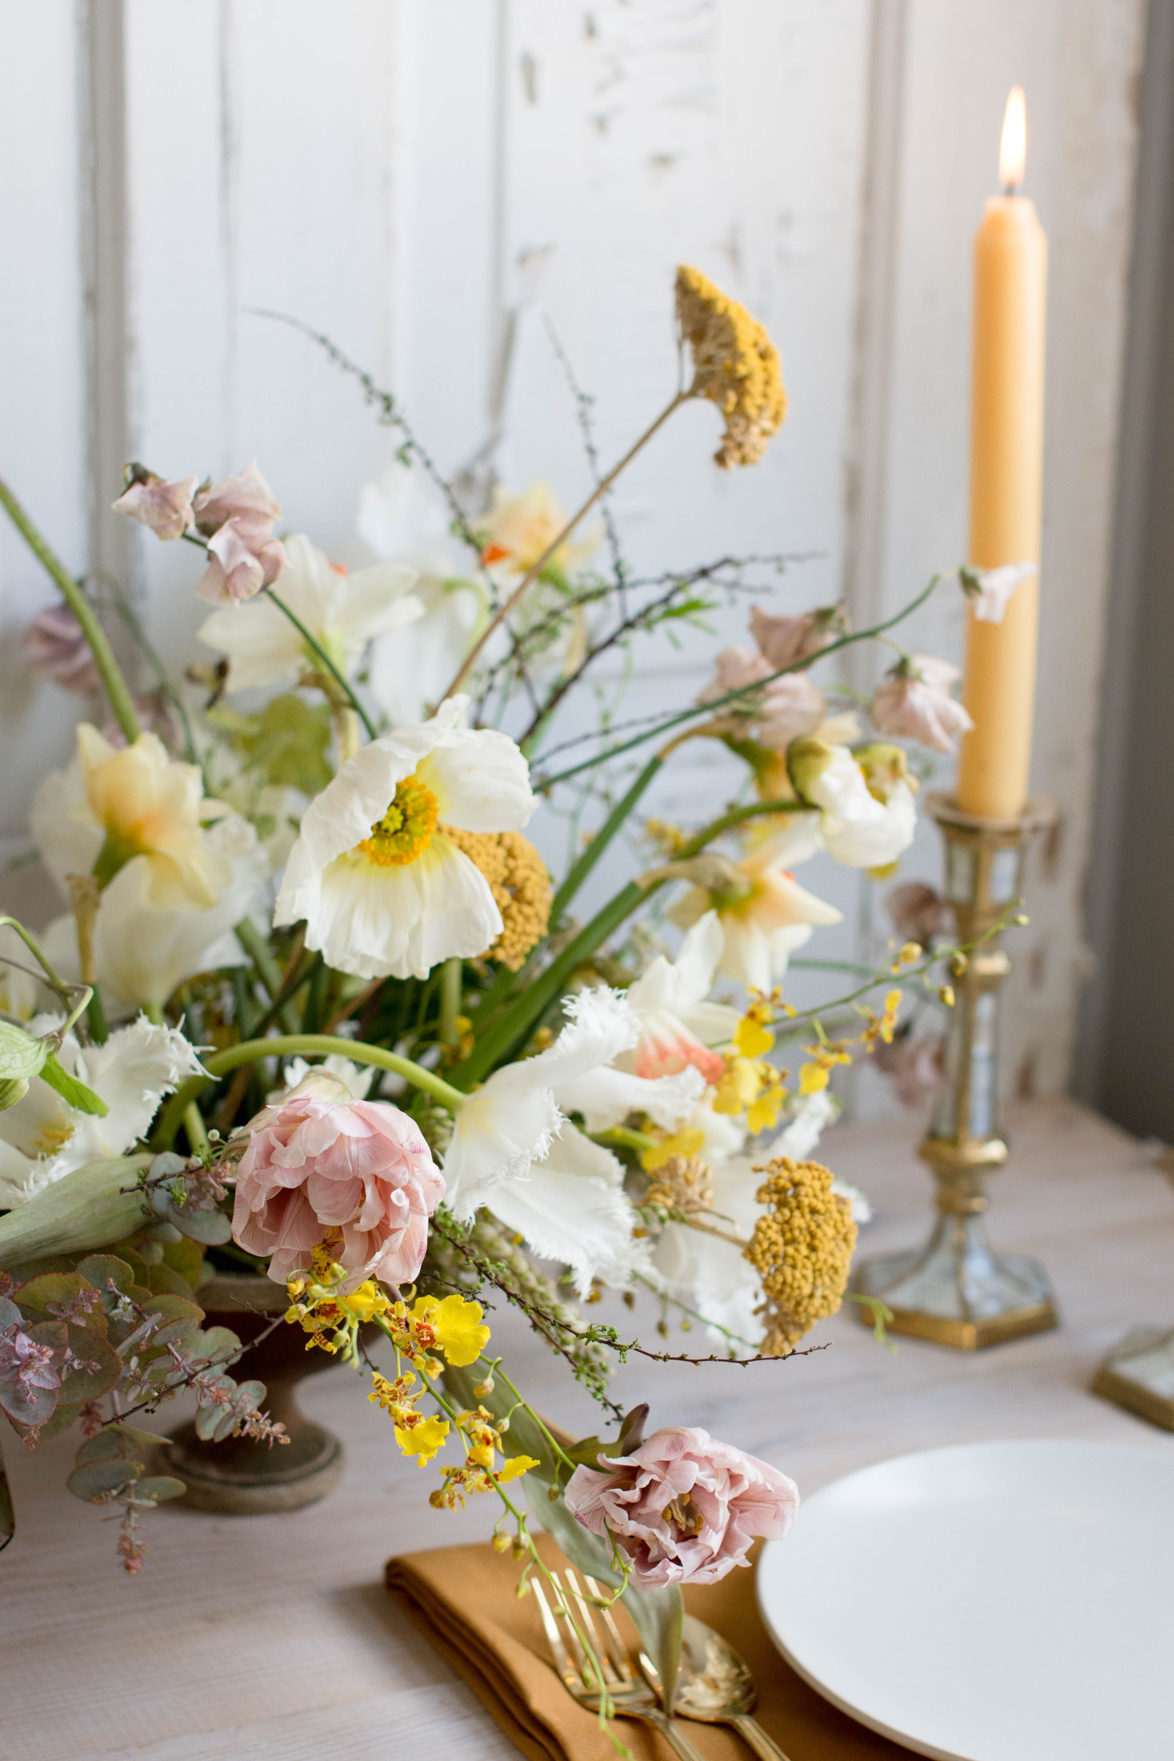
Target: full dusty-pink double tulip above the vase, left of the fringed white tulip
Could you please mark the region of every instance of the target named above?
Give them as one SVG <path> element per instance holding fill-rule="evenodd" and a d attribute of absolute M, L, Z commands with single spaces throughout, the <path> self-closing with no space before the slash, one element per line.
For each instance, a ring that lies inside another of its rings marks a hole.
<path fill-rule="evenodd" d="M 310 1266 L 334 1229 L 341 1250 L 331 1252 L 349 1273 L 343 1291 L 366 1278 L 415 1277 L 445 1183 L 407 1113 L 385 1101 L 331 1101 L 319 1087 L 264 1108 L 246 1131 L 232 1236 L 248 1254 L 273 1256 L 275 1282 Z"/>

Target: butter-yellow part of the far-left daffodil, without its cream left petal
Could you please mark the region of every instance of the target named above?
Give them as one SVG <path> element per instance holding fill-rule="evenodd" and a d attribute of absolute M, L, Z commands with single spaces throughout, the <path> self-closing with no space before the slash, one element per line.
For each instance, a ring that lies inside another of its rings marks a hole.
<path fill-rule="evenodd" d="M 139 734 L 120 750 L 88 722 L 77 729 L 77 757 L 86 807 L 76 808 L 76 817 L 93 817 L 106 833 L 93 865 L 99 886 L 107 886 L 132 858 L 144 856 L 153 903 L 215 905 L 232 866 L 204 836 L 201 822 L 229 808 L 204 799 L 199 766 L 176 763 L 157 734 Z"/>

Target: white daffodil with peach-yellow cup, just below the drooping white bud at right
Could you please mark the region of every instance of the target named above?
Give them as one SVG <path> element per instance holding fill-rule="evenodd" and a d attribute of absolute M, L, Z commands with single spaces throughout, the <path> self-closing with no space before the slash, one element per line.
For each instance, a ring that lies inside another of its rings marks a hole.
<path fill-rule="evenodd" d="M 748 990 L 769 991 L 787 972 L 796 947 L 810 940 L 811 928 L 840 923 L 843 916 L 801 888 L 790 873 L 792 863 L 818 849 L 815 815 L 796 814 L 792 819 L 796 824 L 730 865 L 737 879 L 729 888 L 690 888 L 669 912 L 683 930 L 716 912 L 722 926 L 718 970 Z"/>

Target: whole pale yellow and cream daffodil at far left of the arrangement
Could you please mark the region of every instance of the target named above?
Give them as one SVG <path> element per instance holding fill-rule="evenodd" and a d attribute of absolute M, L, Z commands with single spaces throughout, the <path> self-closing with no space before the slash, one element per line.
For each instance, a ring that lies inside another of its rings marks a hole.
<path fill-rule="evenodd" d="M 167 755 L 157 734 L 113 747 L 97 727 L 77 727 L 77 763 L 49 771 L 33 796 L 30 826 L 62 891 L 67 873 L 93 873 L 106 888 L 134 859 L 146 863 L 153 903 L 215 905 L 231 868 L 204 829 L 229 808 L 204 798 L 197 764 Z"/>

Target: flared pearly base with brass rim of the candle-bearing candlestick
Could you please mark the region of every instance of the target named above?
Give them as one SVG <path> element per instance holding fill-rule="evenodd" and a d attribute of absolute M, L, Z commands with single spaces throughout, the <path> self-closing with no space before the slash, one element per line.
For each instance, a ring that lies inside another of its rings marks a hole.
<path fill-rule="evenodd" d="M 943 1213 L 921 1249 L 880 1254 L 857 1266 L 852 1289 L 892 1310 L 892 1333 L 982 1351 L 1060 1326 L 1037 1259 L 996 1254 L 977 1213 Z M 855 1305 L 871 1326 L 866 1303 Z"/>

